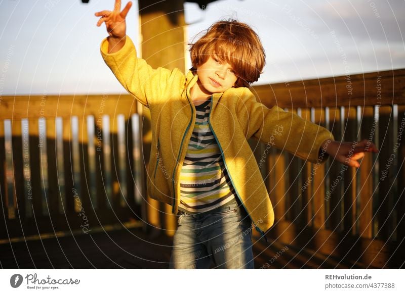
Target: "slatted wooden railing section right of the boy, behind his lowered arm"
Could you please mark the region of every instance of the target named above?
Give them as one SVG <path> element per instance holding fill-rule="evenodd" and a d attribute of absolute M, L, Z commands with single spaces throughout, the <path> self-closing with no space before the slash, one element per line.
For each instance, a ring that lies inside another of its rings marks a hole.
<path fill-rule="evenodd" d="M 368 267 L 403 266 L 405 237 L 405 70 L 256 86 L 277 105 L 332 131 L 369 139 L 379 152 L 361 167 L 317 165 L 252 142 L 275 209 L 268 235 Z"/>

